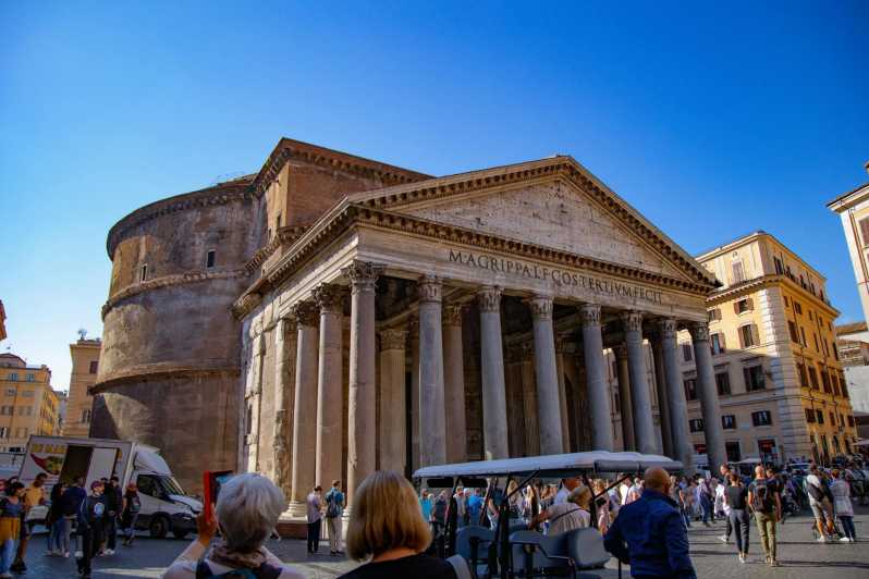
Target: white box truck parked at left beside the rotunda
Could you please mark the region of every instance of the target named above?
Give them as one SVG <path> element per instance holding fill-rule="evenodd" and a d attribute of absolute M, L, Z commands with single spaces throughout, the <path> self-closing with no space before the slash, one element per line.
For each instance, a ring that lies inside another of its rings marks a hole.
<path fill-rule="evenodd" d="M 203 509 L 200 501 L 184 494 L 159 451 L 137 442 L 30 436 L 19 477 L 29 485 L 40 472 L 48 475 L 47 497 L 58 481 L 71 484 L 81 478 L 89 489 L 93 481 L 115 476 L 122 491 L 135 482 L 142 503 L 136 528 L 156 538 L 171 532 L 183 539 L 196 530 Z"/>

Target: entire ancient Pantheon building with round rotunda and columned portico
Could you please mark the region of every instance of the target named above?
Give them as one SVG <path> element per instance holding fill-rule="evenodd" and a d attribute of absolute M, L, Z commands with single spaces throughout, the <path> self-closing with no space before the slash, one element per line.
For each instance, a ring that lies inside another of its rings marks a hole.
<path fill-rule="evenodd" d="M 690 468 L 680 331 L 725 460 L 719 282 L 572 157 L 436 177 L 281 139 L 254 175 L 125 217 L 108 251 L 91 435 L 160 447 L 191 486 L 259 471 L 302 513 L 376 469 L 592 448 Z"/>

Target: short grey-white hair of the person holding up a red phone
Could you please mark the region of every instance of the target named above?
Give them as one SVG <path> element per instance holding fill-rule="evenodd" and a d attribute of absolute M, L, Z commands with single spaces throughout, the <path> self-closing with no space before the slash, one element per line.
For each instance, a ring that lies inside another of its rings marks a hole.
<path fill-rule="evenodd" d="M 286 508 L 283 492 L 256 472 L 231 478 L 220 488 L 217 518 L 223 540 L 232 551 L 259 549 Z"/>

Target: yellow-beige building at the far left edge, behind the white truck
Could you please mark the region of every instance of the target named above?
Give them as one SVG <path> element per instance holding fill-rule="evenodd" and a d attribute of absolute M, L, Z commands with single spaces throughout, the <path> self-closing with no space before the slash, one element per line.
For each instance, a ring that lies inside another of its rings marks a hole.
<path fill-rule="evenodd" d="M 60 434 L 60 404 L 51 370 L 0 354 L 0 452 L 23 452 L 34 434 Z"/>

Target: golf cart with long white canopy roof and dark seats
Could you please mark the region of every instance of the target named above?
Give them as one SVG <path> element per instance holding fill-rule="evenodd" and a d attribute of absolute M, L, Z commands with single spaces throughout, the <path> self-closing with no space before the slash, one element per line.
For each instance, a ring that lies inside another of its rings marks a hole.
<path fill-rule="evenodd" d="M 461 554 L 475 578 L 577 577 L 578 571 L 600 569 L 610 559 L 598 530 L 575 529 L 550 537 L 527 530 L 524 523 L 511 528 L 510 496 L 537 479 L 579 478 L 590 488 L 589 476 L 615 475 L 616 480 L 604 493 L 592 495 L 591 523 L 597 527 L 597 498 L 649 467 L 662 467 L 672 473 L 683 469 L 682 463 L 665 456 L 595 451 L 425 467 L 414 472 L 414 482 L 417 486 L 452 489 L 444 529 L 436 538 L 436 549 L 441 557 Z M 511 481 L 516 481 L 518 486 L 507 494 Z M 486 489 L 479 520 L 461 528 L 454 497 L 458 485 Z M 484 525 L 490 503 L 497 506 L 499 514 L 494 530 Z"/>

